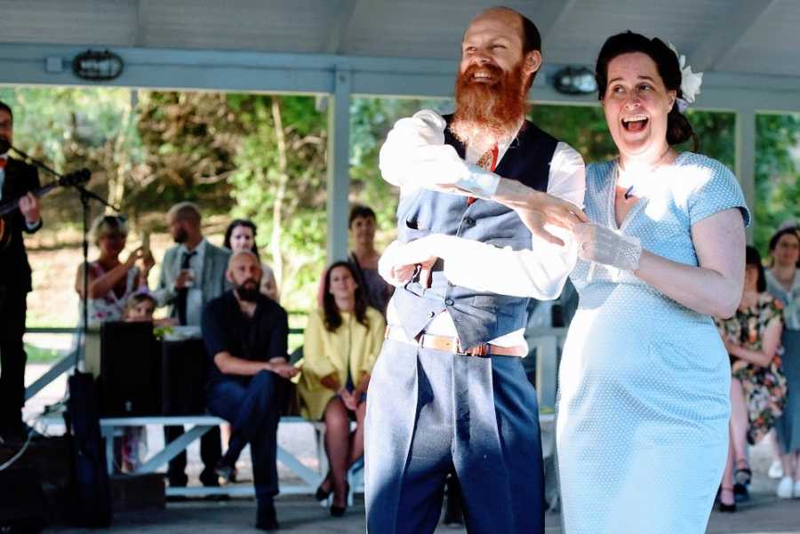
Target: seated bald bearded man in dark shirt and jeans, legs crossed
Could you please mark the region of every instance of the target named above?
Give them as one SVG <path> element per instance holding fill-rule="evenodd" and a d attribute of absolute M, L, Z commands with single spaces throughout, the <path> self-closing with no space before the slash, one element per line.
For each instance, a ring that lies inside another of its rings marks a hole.
<path fill-rule="evenodd" d="M 206 305 L 202 331 L 212 358 L 206 389 L 208 410 L 232 426 L 228 451 L 217 473 L 229 479 L 236 458 L 250 443 L 258 500 L 256 528 L 277 528 L 276 442 L 284 379 L 299 371 L 286 361 L 289 322 L 275 301 L 260 291 L 259 259 L 239 251 L 228 262 L 233 290 Z"/>

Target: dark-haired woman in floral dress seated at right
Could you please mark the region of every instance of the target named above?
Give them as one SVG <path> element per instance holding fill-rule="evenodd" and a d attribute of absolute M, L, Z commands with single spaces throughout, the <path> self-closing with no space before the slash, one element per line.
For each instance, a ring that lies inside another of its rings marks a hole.
<path fill-rule="evenodd" d="M 745 283 L 736 314 L 718 319 L 731 356 L 731 444 L 719 494 L 721 512 L 735 512 L 733 483 L 747 485 L 752 472 L 747 443 L 760 442 L 783 411 L 786 379 L 780 371 L 780 332 L 783 305 L 766 292 L 764 267 L 755 248 L 748 246 Z"/>

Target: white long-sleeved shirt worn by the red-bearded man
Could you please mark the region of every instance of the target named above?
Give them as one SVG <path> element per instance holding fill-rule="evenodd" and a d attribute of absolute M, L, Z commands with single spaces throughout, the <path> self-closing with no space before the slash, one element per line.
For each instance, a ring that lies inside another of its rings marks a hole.
<path fill-rule="evenodd" d="M 420 187 L 436 189 L 438 184 L 455 184 L 464 195 L 491 197 L 500 177 L 478 167 L 476 162 L 480 154 L 470 147 L 466 150 L 466 160 L 461 159 L 454 147 L 444 144 L 444 128 L 444 117 L 429 109 L 398 121 L 380 148 L 383 178 L 399 186 L 401 196 Z M 498 165 L 512 140 L 498 145 Z M 559 142 L 550 161 L 547 193 L 582 208 L 585 188 L 583 158 L 574 148 Z M 420 240 L 424 244 L 416 250 L 413 246 L 392 243 L 380 259 L 380 272 L 389 279 L 391 267 L 436 256 L 444 259 L 444 275 L 455 285 L 519 297 L 556 299 L 575 265 L 577 253 L 570 232 L 560 227 L 546 226 L 546 229 L 566 244 L 562 247 L 548 243 L 535 235 L 531 249 L 524 251 L 498 248 L 454 235 L 429 235 Z M 400 323 L 392 302 L 389 302 L 387 318 L 389 324 Z M 455 325 L 446 311 L 436 315 L 425 331 L 456 335 Z M 522 345 L 524 329 L 490 342 L 501 347 Z"/>

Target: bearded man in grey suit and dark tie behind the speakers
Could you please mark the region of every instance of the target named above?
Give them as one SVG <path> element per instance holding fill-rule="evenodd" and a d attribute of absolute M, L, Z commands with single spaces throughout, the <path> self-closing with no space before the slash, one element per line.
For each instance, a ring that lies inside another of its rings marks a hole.
<path fill-rule="evenodd" d="M 156 299 L 161 306 L 170 306 L 170 316 L 181 325 L 200 327 L 205 304 L 228 291 L 225 278 L 230 251 L 208 243 L 200 227 L 200 211 L 194 203 L 177 203 L 167 212 L 172 239 L 177 243 L 164 254 Z M 205 359 L 205 355 L 199 355 Z M 183 434 L 182 426 L 165 426 L 164 439 L 172 442 Z M 200 441 L 204 469 L 200 482 L 204 486 L 219 485 L 214 469 L 222 456 L 220 428 L 204 434 Z M 170 461 L 167 478 L 170 486 L 186 486 L 186 452 Z"/>

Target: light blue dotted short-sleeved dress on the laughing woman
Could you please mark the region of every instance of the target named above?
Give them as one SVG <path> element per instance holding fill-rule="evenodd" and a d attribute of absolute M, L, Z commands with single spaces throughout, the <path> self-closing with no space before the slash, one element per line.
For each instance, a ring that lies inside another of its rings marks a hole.
<path fill-rule="evenodd" d="M 586 213 L 644 249 L 696 266 L 692 225 L 739 208 L 732 172 L 684 152 L 617 228 L 616 162 L 590 164 Z M 556 424 L 565 534 L 701 534 L 728 448 L 731 368 L 708 315 L 628 271 L 579 259 Z"/>

